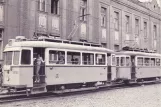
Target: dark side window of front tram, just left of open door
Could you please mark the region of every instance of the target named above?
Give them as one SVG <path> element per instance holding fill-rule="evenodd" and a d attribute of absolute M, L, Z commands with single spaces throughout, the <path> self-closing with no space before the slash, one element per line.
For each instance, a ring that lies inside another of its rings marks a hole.
<path fill-rule="evenodd" d="M 21 64 L 31 64 L 31 51 L 30 50 L 22 50 Z"/>

